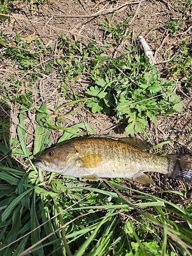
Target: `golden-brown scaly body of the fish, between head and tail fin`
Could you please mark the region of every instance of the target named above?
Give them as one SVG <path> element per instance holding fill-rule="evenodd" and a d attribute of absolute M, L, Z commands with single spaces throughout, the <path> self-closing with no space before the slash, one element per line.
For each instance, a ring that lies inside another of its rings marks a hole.
<path fill-rule="evenodd" d="M 102 156 L 102 162 L 90 168 L 99 177 L 111 178 L 132 178 L 135 172 L 145 170 L 145 172 L 167 173 L 168 161 L 166 157 L 158 157 L 152 154 L 141 152 L 138 148 L 123 141 L 101 138 L 74 140 L 71 142 L 82 157 L 92 154 Z M 108 173 L 106 173 L 108 172 Z"/>

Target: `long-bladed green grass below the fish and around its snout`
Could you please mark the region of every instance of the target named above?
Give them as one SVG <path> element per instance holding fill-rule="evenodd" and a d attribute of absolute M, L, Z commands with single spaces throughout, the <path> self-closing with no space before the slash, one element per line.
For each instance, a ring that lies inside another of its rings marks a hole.
<path fill-rule="evenodd" d="M 33 152 L 30 152 L 24 129 L 25 111 L 23 107 L 19 114 L 18 139 L 12 141 L 13 146 L 9 146 L 9 138 L 6 139 L 7 147 L 1 142 L 0 227 L 3 245 L 0 250 L 3 255 L 12 252 L 27 255 L 29 250 L 34 255 L 65 255 L 61 225 L 65 226 L 73 255 L 173 256 L 181 255 L 183 251 L 191 255 L 192 221 L 188 202 L 181 207 L 111 180 L 117 189 L 137 193 L 134 199 L 126 198 L 142 209 L 143 215 L 138 219 L 132 204 L 124 201 L 105 182 L 89 185 L 84 179 L 63 179 L 54 173 L 35 169 L 29 157 L 41 152 L 46 143 L 51 143 L 49 126 L 52 126 L 52 120 L 46 104 L 42 105 L 37 111 L 38 125 L 34 132 Z M 83 125 L 68 128 L 61 140 L 77 135 L 78 127 L 85 130 Z M 93 133 L 88 124 L 87 129 Z M 13 152 L 12 157 L 20 159 L 17 161 L 22 168 L 12 164 L 7 156 L 9 150 Z M 30 172 L 26 173 L 23 168 Z M 180 196 L 186 198 L 181 193 Z M 136 203 L 138 200 L 140 202 Z M 175 222 L 175 219 L 180 221 Z"/>

